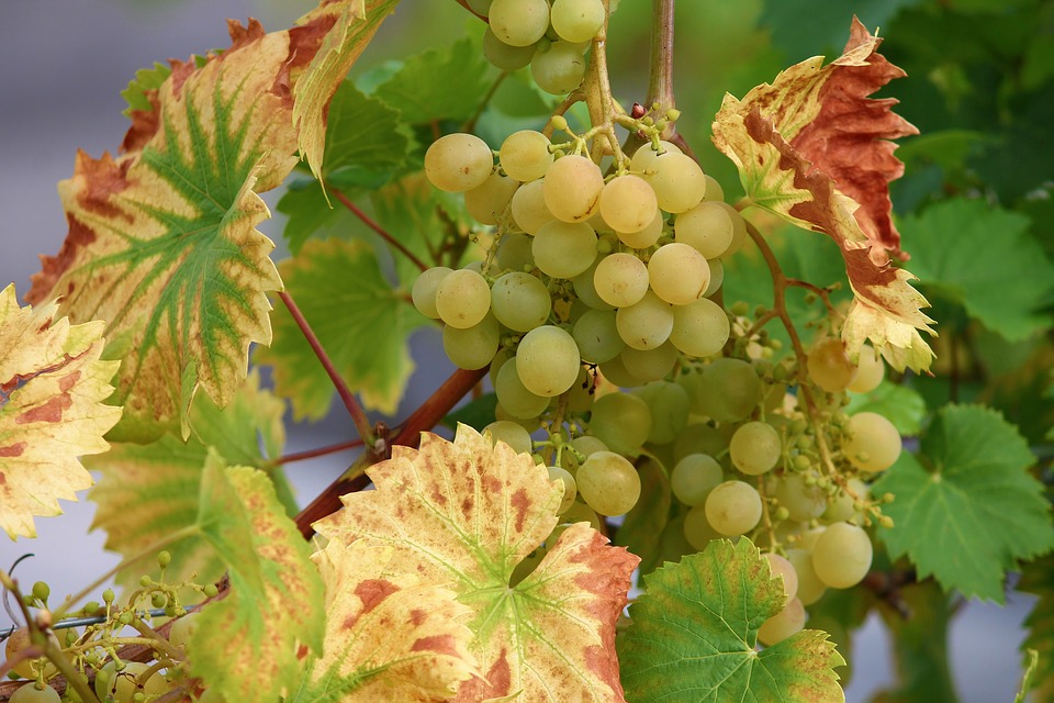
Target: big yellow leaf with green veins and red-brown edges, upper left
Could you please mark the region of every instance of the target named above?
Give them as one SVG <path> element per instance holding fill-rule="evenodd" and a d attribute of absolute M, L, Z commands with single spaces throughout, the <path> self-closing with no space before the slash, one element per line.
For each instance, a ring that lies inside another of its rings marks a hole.
<path fill-rule="evenodd" d="M 186 438 L 199 388 L 225 405 L 245 378 L 249 344 L 270 342 L 266 292 L 282 282 L 268 257 L 273 244 L 256 230 L 270 214 L 257 193 L 296 163 L 296 81 L 312 82 L 306 92 L 324 110 L 333 91 L 317 93 L 343 79 L 313 65 L 315 55 L 354 60 L 372 36 L 350 31 L 358 13 L 345 5 L 361 0 L 326 1 L 291 31 L 232 22 L 229 48 L 173 62 L 141 94 L 153 109 L 133 112 L 122 156 L 80 153 L 59 185 L 69 234 L 44 257 L 26 299 L 60 298 L 71 321 L 106 321 L 105 355 L 124 361 L 114 438 L 148 442 L 177 428 Z"/>

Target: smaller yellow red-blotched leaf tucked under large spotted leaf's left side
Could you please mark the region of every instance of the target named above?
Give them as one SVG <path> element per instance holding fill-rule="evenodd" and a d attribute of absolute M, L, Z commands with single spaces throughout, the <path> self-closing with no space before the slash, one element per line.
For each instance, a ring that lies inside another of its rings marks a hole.
<path fill-rule="evenodd" d="M 438 703 L 480 676 L 471 609 L 449 589 L 392 572 L 393 554 L 360 539 L 312 556 L 326 584 L 326 639 L 290 703 Z"/>

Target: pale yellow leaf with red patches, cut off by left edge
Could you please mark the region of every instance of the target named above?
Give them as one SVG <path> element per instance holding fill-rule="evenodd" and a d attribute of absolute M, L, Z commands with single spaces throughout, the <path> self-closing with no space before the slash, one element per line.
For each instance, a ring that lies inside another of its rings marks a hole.
<path fill-rule="evenodd" d="M 14 283 L 0 291 L 0 526 L 35 537 L 33 516 L 58 515 L 58 499 L 91 486 L 78 461 L 100 454 L 121 417 L 103 405 L 117 361 L 101 361 L 100 322 L 71 325 L 54 304 L 19 306 Z"/>

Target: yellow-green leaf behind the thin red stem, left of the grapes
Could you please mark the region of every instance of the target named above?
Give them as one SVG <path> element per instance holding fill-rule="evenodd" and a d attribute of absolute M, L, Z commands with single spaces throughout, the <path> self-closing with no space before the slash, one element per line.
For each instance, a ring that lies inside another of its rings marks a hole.
<path fill-rule="evenodd" d="M 287 290 L 337 371 L 367 408 L 393 414 L 414 369 L 410 333 L 428 321 L 394 290 L 369 245 L 310 239 L 281 265 Z M 329 410 L 333 382 L 288 310 L 274 312 L 274 342 L 256 360 L 274 367 L 276 388 L 296 419 Z"/>

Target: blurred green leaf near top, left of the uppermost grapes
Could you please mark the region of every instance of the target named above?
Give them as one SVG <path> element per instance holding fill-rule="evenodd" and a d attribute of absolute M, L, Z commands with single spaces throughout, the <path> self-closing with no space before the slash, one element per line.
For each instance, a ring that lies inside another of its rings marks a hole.
<path fill-rule="evenodd" d="M 402 113 L 410 124 L 464 121 L 483 101 L 493 67 L 468 38 L 411 56 L 377 87 L 374 97 Z"/>

